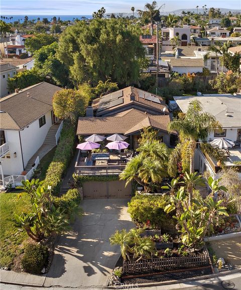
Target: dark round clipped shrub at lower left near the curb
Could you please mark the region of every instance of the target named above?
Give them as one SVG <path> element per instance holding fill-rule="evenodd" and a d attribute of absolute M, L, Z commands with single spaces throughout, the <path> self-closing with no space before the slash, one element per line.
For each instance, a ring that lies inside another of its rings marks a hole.
<path fill-rule="evenodd" d="M 41 274 L 43 267 L 48 264 L 49 250 L 47 246 L 28 244 L 25 247 L 21 265 L 25 272 Z"/>

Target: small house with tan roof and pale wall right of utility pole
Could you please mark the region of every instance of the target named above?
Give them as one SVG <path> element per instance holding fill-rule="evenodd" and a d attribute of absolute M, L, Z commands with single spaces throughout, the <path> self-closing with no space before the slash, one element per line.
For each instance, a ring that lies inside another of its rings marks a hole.
<path fill-rule="evenodd" d="M 171 71 L 178 74 L 202 73 L 204 61 L 199 58 L 172 58 L 169 62 Z"/>

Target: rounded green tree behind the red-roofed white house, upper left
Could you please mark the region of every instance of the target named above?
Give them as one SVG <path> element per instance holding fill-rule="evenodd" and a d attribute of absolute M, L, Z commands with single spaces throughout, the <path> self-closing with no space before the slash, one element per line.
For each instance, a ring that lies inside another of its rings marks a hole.
<path fill-rule="evenodd" d="M 56 38 L 52 35 L 49 35 L 47 33 L 38 33 L 35 34 L 33 37 L 29 37 L 26 39 L 25 47 L 31 54 L 34 54 L 36 50 L 39 50 L 41 47 L 49 45 L 55 41 Z"/>

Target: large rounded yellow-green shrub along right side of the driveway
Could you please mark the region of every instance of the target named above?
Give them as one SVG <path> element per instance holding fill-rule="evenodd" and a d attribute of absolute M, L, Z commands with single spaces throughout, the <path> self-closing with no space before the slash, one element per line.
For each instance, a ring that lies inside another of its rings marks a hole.
<path fill-rule="evenodd" d="M 170 202 L 168 195 L 143 195 L 136 194 L 128 202 L 128 212 L 133 222 L 151 228 L 161 229 L 162 232 L 175 231 L 175 220 L 172 215 L 164 212 Z"/>

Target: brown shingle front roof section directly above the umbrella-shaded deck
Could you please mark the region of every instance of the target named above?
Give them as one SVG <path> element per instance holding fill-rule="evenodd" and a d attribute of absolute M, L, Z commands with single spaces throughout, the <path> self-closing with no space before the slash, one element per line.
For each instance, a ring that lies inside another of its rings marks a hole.
<path fill-rule="evenodd" d="M 144 127 L 153 126 L 167 131 L 170 122 L 169 115 L 148 115 L 136 109 L 128 110 L 109 117 L 80 117 L 78 120 L 77 134 L 131 134 Z"/>

